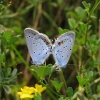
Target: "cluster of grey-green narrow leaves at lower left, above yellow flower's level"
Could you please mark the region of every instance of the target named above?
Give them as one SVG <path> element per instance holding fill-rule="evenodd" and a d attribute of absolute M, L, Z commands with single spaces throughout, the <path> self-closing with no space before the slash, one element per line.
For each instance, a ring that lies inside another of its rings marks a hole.
<path fill-rule="evenodd" d="M 17 75 L 17 69 L 14 69 L 12 72 L 11 68 L 8 68 L 7 70 L 3 69 L 0 71 L 0 85 L 8 94 L 11 93 L 10 86 L 18 85 L 15 81 Z"/>

